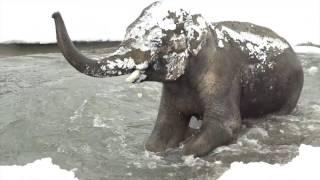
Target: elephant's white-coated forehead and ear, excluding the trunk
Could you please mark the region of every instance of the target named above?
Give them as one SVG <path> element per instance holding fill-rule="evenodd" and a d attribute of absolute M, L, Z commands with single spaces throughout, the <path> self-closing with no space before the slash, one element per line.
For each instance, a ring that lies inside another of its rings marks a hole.
<path fill-rule="evenodd" d="M 128 26 L 122 46 L 134 52 L 136 63 L 148 64 L 164 80 L 176 80 L 184 74 L 187 58 L 203 47 L 208 27 L 199 14 L 154 2 Z"/>

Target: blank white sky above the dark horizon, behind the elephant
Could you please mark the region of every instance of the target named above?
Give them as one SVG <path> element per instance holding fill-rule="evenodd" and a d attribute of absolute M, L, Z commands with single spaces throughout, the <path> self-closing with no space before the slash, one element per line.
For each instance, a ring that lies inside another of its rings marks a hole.
<path fill-rule="evenodd" d="M 0 43 L 55 42 L 51 14 L 60 11 L 73 40 L 121 40 L 154 0 L 0 0 Z M 175 0 L 209 21 L 238 20 L 270 27 L 292 44 L 320 43 L 320 1 Z"/>

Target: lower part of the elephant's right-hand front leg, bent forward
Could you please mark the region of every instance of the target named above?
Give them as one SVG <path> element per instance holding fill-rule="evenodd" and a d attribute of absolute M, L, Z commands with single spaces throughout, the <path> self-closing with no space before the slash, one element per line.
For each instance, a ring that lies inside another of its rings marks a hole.
<path fill-rule="evenodd" d="M 184 144 L 185 155 L 204 156 L 214 148 L 232 141 L 234 132 L 240 128 L 240 113 L 224 109 L 210 108 L 204 113 L 200 132 Z"/>

